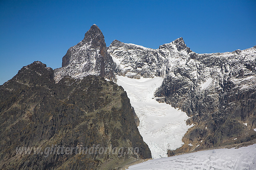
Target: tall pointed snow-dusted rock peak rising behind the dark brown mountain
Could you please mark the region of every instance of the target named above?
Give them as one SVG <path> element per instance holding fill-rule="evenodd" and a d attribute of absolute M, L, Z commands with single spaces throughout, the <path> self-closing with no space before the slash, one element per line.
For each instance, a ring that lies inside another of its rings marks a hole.
<path fill-rule="evenodd" d="M 87 75 L 116 81 L 115 67 L 108 54 L 104 36 L 94 24 L 81 42 L 67 50 L 67 54 L 62 58 L 62 67 L 54 70 L 54 77 L 57 82 L 64 76 L 83 79 Z"/>

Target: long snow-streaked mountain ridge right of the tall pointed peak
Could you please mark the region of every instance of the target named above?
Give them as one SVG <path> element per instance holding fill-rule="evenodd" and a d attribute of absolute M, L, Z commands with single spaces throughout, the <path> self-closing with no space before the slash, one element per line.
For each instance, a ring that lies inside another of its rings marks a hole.
<path fill-rule="evenodd" d="M 108 52 L 119 75 L 162 76 L 156 100 L 180 108 L 191 117 L 187 123 L 196 125 L 183 138 L 185 145 L 169 155 L 255 138 L 256 46 L 197 54 L 183 38 L 158 49 L 114 40 Z"/>

